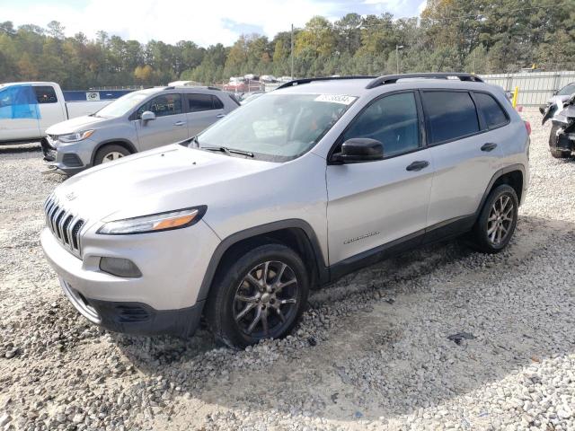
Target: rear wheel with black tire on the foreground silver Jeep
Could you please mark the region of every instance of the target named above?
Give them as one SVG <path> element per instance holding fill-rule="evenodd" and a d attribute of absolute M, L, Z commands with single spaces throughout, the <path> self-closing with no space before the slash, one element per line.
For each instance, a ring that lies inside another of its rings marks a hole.
<path fill-rule="evenodd" d="M 505 207 L 501 208 L 502 205 Z M 498 207 L 500 214 L 498 214 Z M 502 184 L 491 190 L 483 204 L 479 218 L 473 226 L 474 248 L 484 253 L 499 253 L 505 249 L 517 226 L 518 208 L 519 201 L 515 189 L 507 184 Z M 500 215 L 507 215 L 510 220 L 507 219 L 507 216 L 500 217 Z M 499 228 L 498 224 L 502 228 Z"/>

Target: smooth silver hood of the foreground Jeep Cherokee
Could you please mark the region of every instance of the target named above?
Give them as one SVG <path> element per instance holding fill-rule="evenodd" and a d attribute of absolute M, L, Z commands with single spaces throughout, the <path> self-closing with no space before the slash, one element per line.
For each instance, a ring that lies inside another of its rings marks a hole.
<path fill-rule="evenodd" d="M 166 145 L 104 163 L 64 181 L 57 199 L 77 215 L 97 222 L 208 205 L 230 181 L 272 169 L 278 163 Z M 217 185 L 217 187 L 214 187 Z"/>

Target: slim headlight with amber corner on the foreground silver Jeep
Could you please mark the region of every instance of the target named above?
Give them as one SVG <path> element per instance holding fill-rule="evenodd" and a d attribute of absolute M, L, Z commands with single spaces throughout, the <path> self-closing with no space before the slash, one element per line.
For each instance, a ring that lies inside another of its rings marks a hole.
<path fill-rule="evenodd" d="M 181 229 L 199 222 L 208 207 L 184 208 L 177 211 L 125 218 L 104 224 L 98 233 L 103 235 L 128 235 L 131 233 L 151 233 Z"/>

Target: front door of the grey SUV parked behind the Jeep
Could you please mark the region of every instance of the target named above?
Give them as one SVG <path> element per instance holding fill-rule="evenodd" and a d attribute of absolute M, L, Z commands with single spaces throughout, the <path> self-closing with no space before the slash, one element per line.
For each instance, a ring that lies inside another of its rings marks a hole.
<path fill-rule="evenodd" d="M 140 106 L 136 112 L 139 150 L 146 151 L 186 139 L 188 122 L 182 108 L 178 92 L 162 93 Z M 142 121 L 140 117 L 146 110 L 154 112 L 155 119 Z"/>

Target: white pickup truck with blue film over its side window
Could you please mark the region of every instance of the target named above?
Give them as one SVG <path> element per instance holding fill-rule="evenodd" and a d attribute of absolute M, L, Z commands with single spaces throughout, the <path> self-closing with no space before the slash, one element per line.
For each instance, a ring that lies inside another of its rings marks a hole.
<path fill-rule="evenodd" d="M 62 92 L 56 83 L 0 84 L 0 145 L 40 141 L 50 126 L 93 114 L 126 92 Z"/>

